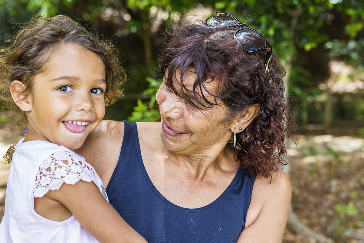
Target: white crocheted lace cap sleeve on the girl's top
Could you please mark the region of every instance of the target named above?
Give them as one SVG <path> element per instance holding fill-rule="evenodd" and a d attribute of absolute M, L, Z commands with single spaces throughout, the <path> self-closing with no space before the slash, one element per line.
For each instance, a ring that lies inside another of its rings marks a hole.
<path fill-rule="evenodd" d="M 34 197 L 43 197 L 50 190 L 58 190 L 63 183 L 74 185 L 77 181 L 94 181 L 96 172 L 71 151 L 59 151 L 47 157 L 39 166 L 33 185 Z"/>

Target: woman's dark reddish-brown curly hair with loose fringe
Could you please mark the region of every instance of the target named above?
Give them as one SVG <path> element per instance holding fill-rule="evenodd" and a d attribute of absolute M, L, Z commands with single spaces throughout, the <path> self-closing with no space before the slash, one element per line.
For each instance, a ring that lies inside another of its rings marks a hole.
<path fill-rule="evenodd" d="M 197 106 L 186 92 L 200 101 L 199 106 L 225 107 L 229 125 L 245 115 L 247 108 L 258 104 L 257 117 L 236 134 L 236 160 L 242 168 L 249 169 L 249 176 L 255 172 L 271 179 L 270 172 L 287 164 L 284 137 L 292 116 L 284 97 L 285 71 L 276 66 L 274 54 L 266 71 L 266 52 L 244 51 L 233 38 L 236 30 L 237 27 L 212 27 L 203 20 L 192 24 L 180 20 L 167 31 L 159 68 L 167 86 L 191 105 Z M 197 77 L 189 90 L 183 85 L 183 77 L 191 70 Z M 175 75 L 180 79 L 178 90 L 172 85 Z M 217 82 L 215 93 L 209 93 L 215 102 L 196 92 L 196 88 L 207 91 L 205 82 Z"/>

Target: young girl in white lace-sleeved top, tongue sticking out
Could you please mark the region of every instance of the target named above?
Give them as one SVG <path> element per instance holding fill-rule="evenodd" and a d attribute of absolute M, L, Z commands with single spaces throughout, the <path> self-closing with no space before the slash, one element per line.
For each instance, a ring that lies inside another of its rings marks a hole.
<path fill-rule="evenodd" d="M 27 126 L 5 156 L 12 164 L 0 242 L 146 242 L 71 151 L 122 94 L 120 74 L 114 49 L 66 16 L 36 17 L 0 50 L 1 97 Z"/>

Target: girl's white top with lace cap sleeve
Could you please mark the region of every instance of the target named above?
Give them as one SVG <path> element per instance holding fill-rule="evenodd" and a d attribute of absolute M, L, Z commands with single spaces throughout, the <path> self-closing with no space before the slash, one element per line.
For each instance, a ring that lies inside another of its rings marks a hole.
<path fill-rule="evenodd" d="M 34 197 L 79 180 L 93 181 L 108 200 L 100 177 L 82 156 L 50 142 L 20 140 L 9 171 L 0 242 L 98 242 L 74 216 L 58 222 L 34 210 Z"/>

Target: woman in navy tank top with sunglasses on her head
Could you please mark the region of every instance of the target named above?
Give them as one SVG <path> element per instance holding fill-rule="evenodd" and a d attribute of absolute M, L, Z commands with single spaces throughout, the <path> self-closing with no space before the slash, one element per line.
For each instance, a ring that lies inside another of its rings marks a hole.
<path fill-rule="evenodd" d="M 148 242 L 281 242 L 291 189 L 272 47 L 225 13 L 169 36 L 161 122 L 104 121 L 78 152 Z"/>

